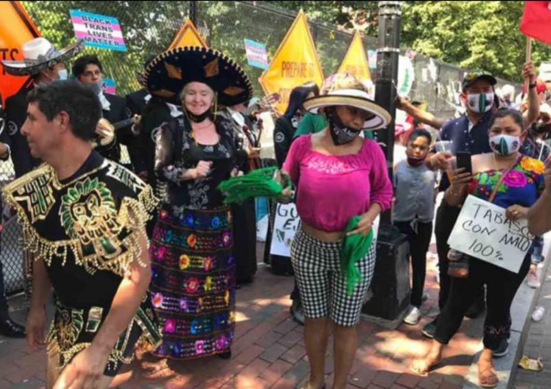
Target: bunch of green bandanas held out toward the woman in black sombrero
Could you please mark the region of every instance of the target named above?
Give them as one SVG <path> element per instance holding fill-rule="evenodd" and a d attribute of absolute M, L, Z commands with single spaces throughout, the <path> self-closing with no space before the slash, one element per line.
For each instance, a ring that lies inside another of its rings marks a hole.
<path fill-rule="evenodd" d="M 230 178 L 220 183 L 218 189 L 225 194 L 224 204 L 243 204 L 249 198 L 266 197 L 280 198 L 284 185 L 290 182 L 278 182 L 274 175 L 278 167 L 266 167 L 245 174 L 245 176 Z M 283 185 L 282 185 L 283 184 Z"/>

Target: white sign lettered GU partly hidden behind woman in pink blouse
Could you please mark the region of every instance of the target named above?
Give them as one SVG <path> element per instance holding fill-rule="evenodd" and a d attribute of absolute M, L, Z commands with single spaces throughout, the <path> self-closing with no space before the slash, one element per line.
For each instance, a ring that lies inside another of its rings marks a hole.
<path fill-rule="evenodd" d="M 295 204 L 278 204 L 273 222 L 271 255 L 291 257 L 291 244 L 300 228 L 300 218 Z"/>

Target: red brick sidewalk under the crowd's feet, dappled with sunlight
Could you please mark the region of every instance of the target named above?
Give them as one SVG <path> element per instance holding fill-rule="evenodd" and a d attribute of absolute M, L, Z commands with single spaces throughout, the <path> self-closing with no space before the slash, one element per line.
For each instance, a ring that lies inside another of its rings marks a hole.
<path fill-rule="evenodd" d="M 360 349 L 347 389 L 460 389 L 476 351 L 480 349 L 482 319 L 466 320 L 450 343 L 443 367 L 429 377 L 408 373 L 411 359 L 423 355 L 430 342 L 420 330 L 437 309 L 438 285 L 435 260 L 428 266 L 429 299 L 421 311 L 424 319 L 415 327 L 402 325 L 388 331 L 362 322 Z M 252 285 L 237 292 L 236 340 L 233 358 L 217 357 L 173 362 L 138 356 L 131 370 L 114 386 L 122 389 L 293 389 L 308 377 L 302 327 L 289 318 L 291 277 L 274 276 L 261 266 Z M 550 309 L 551 310 L 551 309 Z M 14 314 L 22 320 L 23 312 Z M 326 372 L 332 380 L 330 347 Z M 0 389 L 38 389 L 44 386 L 45 354 L 33 353 L 23 340 L 0 337 Z M 330 386 L 328 386 L 330 388 Z"/>

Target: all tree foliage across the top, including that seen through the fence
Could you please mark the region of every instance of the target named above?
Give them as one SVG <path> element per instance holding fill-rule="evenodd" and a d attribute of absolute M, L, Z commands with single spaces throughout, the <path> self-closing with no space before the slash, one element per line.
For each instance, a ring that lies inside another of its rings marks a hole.
<path fill-rule="evenodd" d="M 402 47 L 470 69 L 491 71 L 520 81 L 526 38 L 519 32 L 522 1 L 403 1 Z M 117 81 L 117 93 L 139 88 L 136 71 L 147 56 L 171 43 L 188 18 L 189 1 L 23 1 L 41 34 L 57 47 L 74 41 L 69 10 L 114 16 L 121 22 L 127 52 L 86 48 L 105 65 L 106 77 Z M 199 1 L 197 27 L 210 47 L 243 65 L 260 95 L 262 70 L 247 65 L 244 38 L 265 43 L 269 58 L 293 23 L 306 11 L 325 75 L 341 64 L 353 29 L 378 34 L 378 1 Z M 271 10 L 255 5 L 266 5 Z M 374 38 L 365 38 L 367 49 Z M 551 47 L 536 43 L 533 59 L 551 60 Z"/>

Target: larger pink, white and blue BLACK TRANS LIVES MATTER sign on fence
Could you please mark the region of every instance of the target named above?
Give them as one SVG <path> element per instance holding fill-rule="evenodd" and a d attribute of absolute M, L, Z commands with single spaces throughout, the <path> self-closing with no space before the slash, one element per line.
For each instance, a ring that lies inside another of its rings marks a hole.
<path fill-rule="evenodd" d="M 121 23 L 110 16 L 69 10 L 77 39 L 84 40 L 88 47 L 126 51 Z"/>

